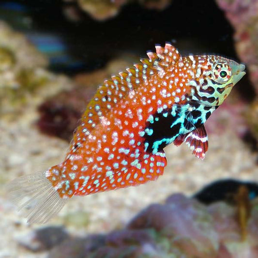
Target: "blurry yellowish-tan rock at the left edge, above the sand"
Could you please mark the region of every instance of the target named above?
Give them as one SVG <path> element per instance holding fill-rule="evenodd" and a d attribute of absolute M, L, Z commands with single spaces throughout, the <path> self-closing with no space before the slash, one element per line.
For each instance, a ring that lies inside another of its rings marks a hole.
<path fill-rule="evenodd" d="M 14 116 L 28 99 L 39 103 L 39 94 L 48 96 L 72 85 L 68 78 L 48 72 L 47 64 L 23 34 L 0 21 L 0 116 Z"/>

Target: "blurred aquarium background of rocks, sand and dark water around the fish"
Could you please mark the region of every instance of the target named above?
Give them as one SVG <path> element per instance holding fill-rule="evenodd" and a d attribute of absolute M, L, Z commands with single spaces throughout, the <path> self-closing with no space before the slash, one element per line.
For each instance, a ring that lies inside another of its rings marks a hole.
<path fill-rule="evenodd" d="M 246 65 L 206 123 L 205 160 L 170 145 L 156 182 L 75 197 L 28 225 L 5 184 L 60 163 L 103 80 L 166 42 Z M 258 0 L 1 0 L 0 258 L 257 257 L 257 42 Z"/>

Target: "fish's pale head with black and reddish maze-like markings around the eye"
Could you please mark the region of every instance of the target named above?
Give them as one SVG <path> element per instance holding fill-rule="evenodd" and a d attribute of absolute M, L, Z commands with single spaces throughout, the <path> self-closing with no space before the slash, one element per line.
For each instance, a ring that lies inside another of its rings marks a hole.
<path fill-rule="evenodd" d="M 219 106 L 233 86 L 245 75 L 245 66 L 220 56 L 195 56 L 192 98 L 207 106 Z"/>

